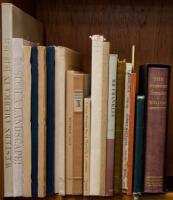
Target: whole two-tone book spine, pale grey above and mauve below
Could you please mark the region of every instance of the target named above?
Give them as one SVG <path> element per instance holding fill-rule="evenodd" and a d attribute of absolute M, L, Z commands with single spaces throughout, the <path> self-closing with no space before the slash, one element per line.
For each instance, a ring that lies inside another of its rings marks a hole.
<path fill-rule="evenodd" d="M 106 141 L 106 196 L 113 195 L 117 55 L 109 57 L 108 127 Z"/>

